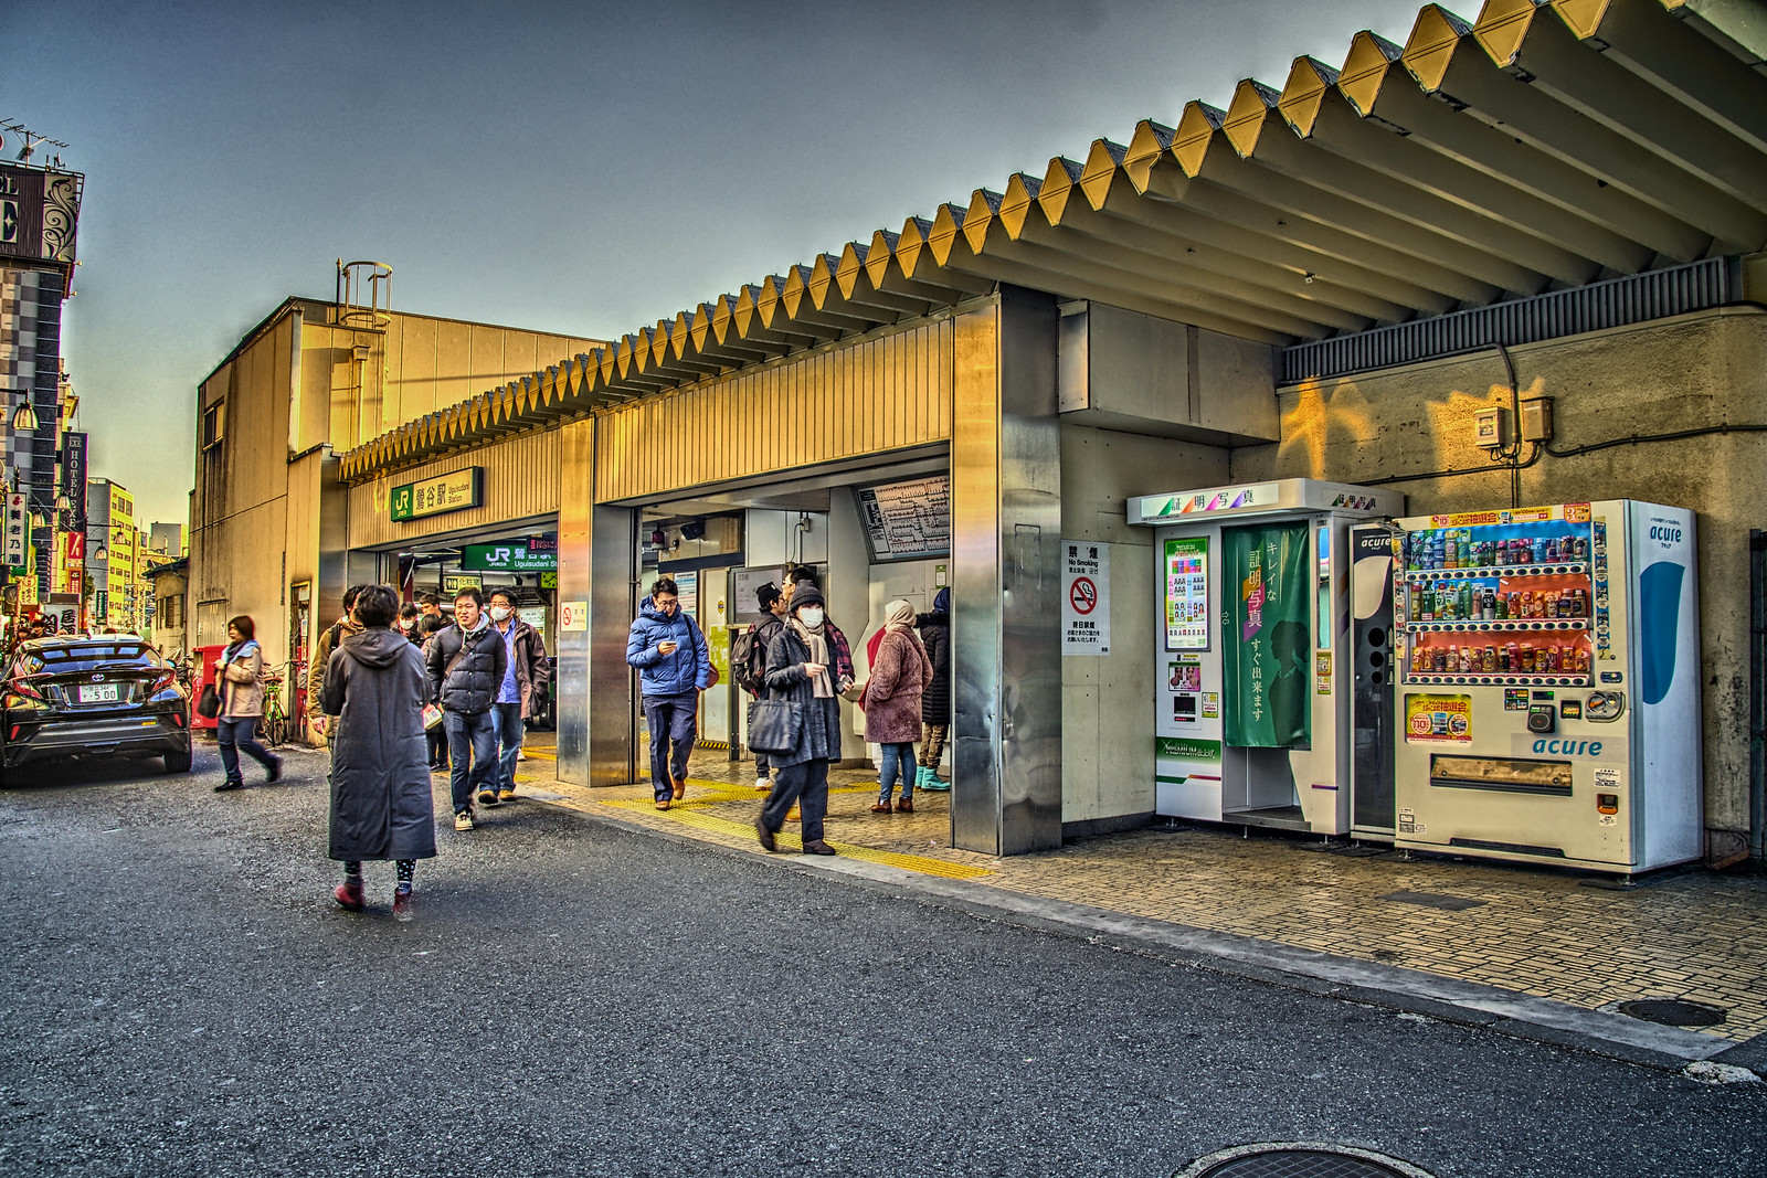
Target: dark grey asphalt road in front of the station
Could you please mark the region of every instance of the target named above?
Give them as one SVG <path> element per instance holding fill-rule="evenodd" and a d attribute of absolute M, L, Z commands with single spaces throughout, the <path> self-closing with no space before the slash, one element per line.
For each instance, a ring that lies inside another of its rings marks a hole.
<path fill-rule="evenodd" d="M 1170 1174 L 1265 1139 L 1442 1176 L 1767 1173 L 1767 1084 L 532 800 L 445 823 L 413 922 L 385 864 L 350 915 L 323 765 L 231 795 L 214 752 L 0 791 L 0 1173 Z"/>

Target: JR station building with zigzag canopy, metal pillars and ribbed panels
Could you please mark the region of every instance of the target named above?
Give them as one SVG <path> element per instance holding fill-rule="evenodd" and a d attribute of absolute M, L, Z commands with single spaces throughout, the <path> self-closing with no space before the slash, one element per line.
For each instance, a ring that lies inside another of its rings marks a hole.
<path fill-rule="evenodd" d="M 1698 517 L 1684 772 L 1707 858 L 1760 855 L 1763 51 L 1742 9 L 1698 0 L 1428 5 L 1405 44 L 1364 32 L 1341 67 L 1295 58 L 1226 109 L 1193 101 L 468 399 L 364 415 L 334 394 L 339 457 L 311 454 L 302 493 L 345 507 L 283 526 L 341 528 L 254 593 L 551 526 L 558 775 L 615 784 L 641 761 L 624 648 L 656 572 L 719 653 L 786 562 L 823 570 L 855 648 L 885 600 L 951 585 L 952 841 L 1011 855 L 1156 811 L 1163 620 L 1131 498 L 1306 477 L 1412 514 L 1673 503 Z M 1479 413 L 1523 401 L 1550 429 L 1497 456 Z M 1062 638 L 1078 549 L 1104 556 L 1108 620 L 1083 655 Z M 740 726 L 733 689 L 707 692 L 701 733 L 740 747 Z"/>

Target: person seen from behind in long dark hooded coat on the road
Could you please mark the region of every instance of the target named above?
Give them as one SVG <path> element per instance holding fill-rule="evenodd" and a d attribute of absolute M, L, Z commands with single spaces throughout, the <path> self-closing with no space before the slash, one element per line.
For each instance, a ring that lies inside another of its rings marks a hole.
<path fill-rule="evenodd" d="M 334 895 L 362 911 L 362 860 L 398 864 L 392 915 L 412 918 L 419 858 L 436 853 L 435 809 L 422 708 L 429 691 L 424 657 L 391 631 L 399 600 L 385 585 L 355 599 L 360 634 L 346 636 L 325 664 L 325 715 L 332 726 L 330 857 L 343 860 Z"/>

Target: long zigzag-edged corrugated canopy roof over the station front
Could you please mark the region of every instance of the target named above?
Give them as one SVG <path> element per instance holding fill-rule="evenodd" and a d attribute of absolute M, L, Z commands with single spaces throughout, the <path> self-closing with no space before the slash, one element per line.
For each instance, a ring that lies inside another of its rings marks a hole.
<path fill-rule="evenodd" d="M 1403 46 L 1184 106 L 345 456 L 486 436 L 887 328 L 998 283 L 1270 344 L 1767 247 L 1767 5 L 1428 5 Z"/>

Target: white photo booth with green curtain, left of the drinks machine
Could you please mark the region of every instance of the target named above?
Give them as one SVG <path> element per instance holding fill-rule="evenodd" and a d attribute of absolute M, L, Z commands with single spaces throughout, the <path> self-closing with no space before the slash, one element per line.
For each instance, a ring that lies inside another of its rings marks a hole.
<path fill-rule="evenodd" d="M 1355 523 L 1398 491 L 1283 479 L 1129 500 L 1156 528 L 1156 811 L 1345 834 Z"/>

